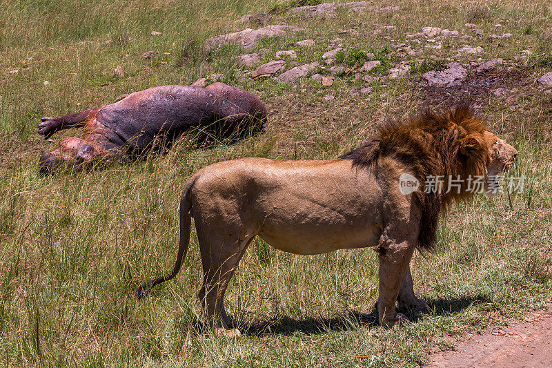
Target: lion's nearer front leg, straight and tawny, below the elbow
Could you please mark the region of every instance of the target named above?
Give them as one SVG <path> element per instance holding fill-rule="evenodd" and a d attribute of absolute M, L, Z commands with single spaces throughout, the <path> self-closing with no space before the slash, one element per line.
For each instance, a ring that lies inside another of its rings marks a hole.
<path fill-rule="evenodd" d="M 414 248 L 411 242 L 391 242 L 391 244 L 380 245 L 380 287 L 377 309 L 382 326 L 393 327 L 400 320 L 406 319 L 397 313 L 395 304 Z"/>

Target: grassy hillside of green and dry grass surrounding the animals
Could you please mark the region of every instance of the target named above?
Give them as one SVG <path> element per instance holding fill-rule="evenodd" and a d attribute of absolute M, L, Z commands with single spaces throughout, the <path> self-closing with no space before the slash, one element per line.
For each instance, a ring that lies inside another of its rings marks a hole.
<path fill-rule="evenodd" d="M 372 10 L 339 8 L 335 17 L 285 12 L 302 3 L 313 1 L 0 0 L 2 365 L 414 367 L 431 347 L 446 349 L 456 338 L 552 301 L 552 94 L 536 81 L 552 71 L 549 2 L 378 0 Z M 378 10 L 384 6 L 399 9 Z M 259 28 L 240 17 L 269 10 L 268 24 L 304 30 L 263 39 L 250 50 L 202 47 L 208 37 Z M 460 33 L 415 35 L 426 26 Z M 297 46 L 303 39 L 315 46 Z M 464 45 L 482 52 L 460 52 Z M 295 84 L 253 80 L 254 68 L 235 62 L 244 52 L 259 52 L 264 62 L 293 49 L 297 59 L 284 58 L 287 69 L 295 61 L 320 61 L 313 72 L 330 75 L 322 54 L 338 46 L 344 50 L 335 65 L 353 72 L 339 72 L 328 87 L 310 77 Z M 142 58 L 147 51 L 154 56 Z M 361 51 L 382 61 L 369 84 L 355 79 Z M 475 71 L 497 57 L 503 67 Z M 424 72 L 450 61 L 473 64 L 462 85 L 424 87 Z M 408 73 L 386 77 L 401 62 L 411 66 Z M 117 66 L 123 77 L 114 74 Z M 183 141 L 165 155 L 103 171 L 38 175 L 39 155 L 55 144 L 35 133 L 40 117 L 217 73 L 266 103 L 264 134 L 212 148 Z M 359 93 L 366 87 L 370 93 Z M 511 92 L 497 96 L 496 88 Z M 199 323 L 194 232 L 178 277 L 140 302 L 133 298 L 139 284 L 172 267 L 177 203 L 194 171 L 244 156 L 337 157 L 388 117 L 460 98 L 475 103 L 491 130 L 520 151 L 509 175 L 525 175 L 526 187 L 454 206 L 440 225 L 437 251 L 415 255 L 415 291 L 431 313 L 396 329 L 377 326 L 377 259 L 370 249 L 299 257 L 255 240 L 226 293 L 228 311 L 246 325 L 244 336 L 221 339 Z"/>

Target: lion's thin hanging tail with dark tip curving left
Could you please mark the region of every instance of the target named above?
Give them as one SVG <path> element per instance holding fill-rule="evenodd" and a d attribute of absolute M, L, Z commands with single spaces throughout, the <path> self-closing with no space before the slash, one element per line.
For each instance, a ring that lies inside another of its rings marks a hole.
<path fill-rule="evenodd" d="M 152 287 L 155 287 L 155 285 L 161 284 L 161 282 L 165 282 L 174 278 L 175 275 L 177 275 L 177 273 L 180 271 L 182 263 L 184 263 L 184 258 L 186 257 L 186 252 L 188 251 L 188 246 L 190 244 L 190 226 L 192 217 L 190 213 L 190 210 L 192 209 L 192 202 L 190 200 L 190 189 L 192 188 L 194 182 L 195 177 L 192 177 L 190 180 L 188 180 L 186 186 L 184 187 L 184 193 L 182 193 L 182 197 L 180 200 L 180 244 L 178 246 L 178 255 L 177 261 L 175 262 L 175 267 L 173 267 L 172 271 L 170 271 L 170 273 L 168 273 L 167 275 L 151 280 L 150 282 L 146 282 L 146 284 L 138 287 L 135 293 L 135 296 L 138 299 L 146 296 L 148 292 L 152 289 Z"/>

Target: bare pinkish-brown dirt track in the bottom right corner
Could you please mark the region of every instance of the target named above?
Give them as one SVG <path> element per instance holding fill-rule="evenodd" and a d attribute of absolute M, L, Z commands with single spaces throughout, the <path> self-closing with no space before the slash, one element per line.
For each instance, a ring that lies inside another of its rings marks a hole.
<path fill-rule="evenodd" d="M 492 328 L 430 359 L 426 367 L 551 367 L 552 309 Z"/>

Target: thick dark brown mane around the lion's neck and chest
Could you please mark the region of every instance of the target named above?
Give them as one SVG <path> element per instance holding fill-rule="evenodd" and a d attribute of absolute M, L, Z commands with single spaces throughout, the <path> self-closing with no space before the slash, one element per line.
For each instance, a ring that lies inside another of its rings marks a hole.
<path fill-rule="evenodd" d="M 413 193 L 422 209 L 422 221 L 417 246 L 431 250 L 439 215 L 453 202 L 471 195 L 467 191 L 469 175 L 486 175 L 489 150 L 483 135 L 485 122 L 476 117 L 467 105 L 455 106 L 444 113 L 422 110 L 405 122 L 390 122 L 382 126 L 362 147 L 342 155 L 352 159 L 353 166 L 377 171 L 380 158 L 389 157 L 404 164 L 420 181 Z M 426 177 L 444 176 L 441 193 L 424 193 Z M 463 180 L 460 193 L 453 188 L 446 193 L 449 175 Z"/>

